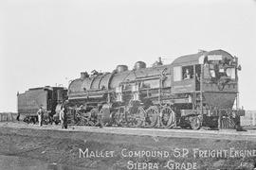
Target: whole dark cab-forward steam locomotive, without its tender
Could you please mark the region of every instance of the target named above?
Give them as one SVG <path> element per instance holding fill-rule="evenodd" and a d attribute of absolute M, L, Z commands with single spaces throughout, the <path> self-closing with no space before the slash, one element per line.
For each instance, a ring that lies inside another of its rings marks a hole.
<path fill-rule="evenodd" d="M 238 59 L 224 50 L 200 51 L 171 64 L 161 59 L 132 70 L 82 72 L 68 86 L 77 124 L 124 127 L 240 127 Z"/>

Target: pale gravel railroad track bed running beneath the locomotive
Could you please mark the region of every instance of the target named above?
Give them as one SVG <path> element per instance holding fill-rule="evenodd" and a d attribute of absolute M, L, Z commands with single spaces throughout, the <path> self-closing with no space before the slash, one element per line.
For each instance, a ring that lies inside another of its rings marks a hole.
<path fill-rule="evenodd" d="M 46 130 L 64 130 L 64 131 L 86 131 L 91 133 L 110 133 L 119 135 L 152 136 L 167 138 L 196 138 L 196 139 L 220 139 L 220 140 L 244 140 L 256 141 L 256 130 L 236 131 L 234 129 L 222 130 L 192 130 L 192 129 L 166 129 L 166 128 L 137 128 L 137 127 L 82 127 L 69 126 L 68 129 L 62 129 L 61 126 L 25 124 L 25 123 L 0 123 L 1 127 L 13 128 L 33 128 Z"/>

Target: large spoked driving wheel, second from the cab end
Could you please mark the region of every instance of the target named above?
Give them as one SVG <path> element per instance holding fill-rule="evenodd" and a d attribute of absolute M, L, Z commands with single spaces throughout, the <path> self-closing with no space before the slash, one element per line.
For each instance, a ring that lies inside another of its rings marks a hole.
<path fill-rule="evenodd" d="M 157 124 L 158 115 L 159 112 L 156 106 L 149 107 L 149 109 L 146 110 L 146 127 L 155 127 Z"/>

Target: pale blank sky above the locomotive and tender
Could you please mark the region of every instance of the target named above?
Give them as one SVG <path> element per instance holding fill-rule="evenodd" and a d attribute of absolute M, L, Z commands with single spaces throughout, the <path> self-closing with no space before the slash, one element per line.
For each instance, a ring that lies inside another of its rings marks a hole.
<path fill-rule="evenodd" d="M 16 93 L 223 49 L 237 56 L 240 105 L 256 110 L 256 0 L 1 0 L 0 111 Z"/>

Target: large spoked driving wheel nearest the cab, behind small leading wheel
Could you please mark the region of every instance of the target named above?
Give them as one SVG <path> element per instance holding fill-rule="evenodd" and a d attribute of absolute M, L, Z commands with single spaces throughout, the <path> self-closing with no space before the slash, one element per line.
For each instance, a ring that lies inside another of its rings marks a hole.
<path fill-rule="evenodd" d="M 163 107 L 160 113 L 160 123 L 162 127 L 172 128 L 175 125 L 175 113 L 170 107 Z"/>

